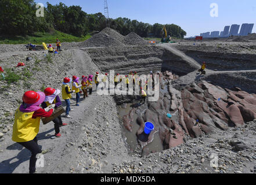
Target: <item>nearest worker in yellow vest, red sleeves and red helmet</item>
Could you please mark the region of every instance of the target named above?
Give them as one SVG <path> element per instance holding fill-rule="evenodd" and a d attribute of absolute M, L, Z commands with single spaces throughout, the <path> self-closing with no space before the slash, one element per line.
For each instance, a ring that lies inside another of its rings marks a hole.
<path fill-rule="evenodd" d="M 46 112 L 39 107 L 44 99 L 44 92 L 27 91 L 23 94 L 22 105 L 15 112 L 12 140 L 31 151 L 29 173 L 35 173 L 37 154 L 48 152 L 41 150 L 37 144 L 41 117 L 50 117 L 53 113 L 53 109 Z"/>

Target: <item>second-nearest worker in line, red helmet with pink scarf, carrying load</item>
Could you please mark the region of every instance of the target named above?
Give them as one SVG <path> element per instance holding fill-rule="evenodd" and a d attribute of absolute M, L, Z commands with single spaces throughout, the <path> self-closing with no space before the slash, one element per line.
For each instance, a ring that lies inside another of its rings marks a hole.
<path fill-rule="evenodd" d="M 55 109 L 62 105 L 62 101 L 60 101 L 60 90 L 55 90 L 54 88 L 47 87 L 44 90 L 45 93 L 45 100 L 42 103 L 42 108 L 45 109 L 50 105 L 55 105 Z M 52 120 L 54 123 L 54 129 L 55 129 L 55 136 L 59 138 L 62 136 L 60 134 L 60 127 L 67 125 L 67 123 L 62 122 L 62 117 L 58 116 L 54 120 Z"/>

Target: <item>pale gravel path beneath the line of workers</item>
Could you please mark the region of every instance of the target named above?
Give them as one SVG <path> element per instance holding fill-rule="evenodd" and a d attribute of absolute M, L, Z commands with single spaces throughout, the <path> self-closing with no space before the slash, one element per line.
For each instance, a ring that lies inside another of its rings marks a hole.
<path fill-rule="evenodd" d="M 73 53 L 77 65 L 67 72 L 68 76 L 99 71 L 84 51 Z M 38 144 L 51 151 L 44 155 L 44 167 L 37 168 L 38 173 L 111 173 L 112 163 L 129 159 L 112 97 L 96 94 L 93 87 L 89 97 L 83 99 L 81 94 L 79 107 L 73 95 L 71 108 L 71 118 L 62 118 L 68 125 L 60 128 L 60 138 L 51 139 L 55 134 L 52 122 L 41 123 Z M 30 151 L 11 138 L 10 133 L 0 146 L 0 173 L 28 173 Z"/>

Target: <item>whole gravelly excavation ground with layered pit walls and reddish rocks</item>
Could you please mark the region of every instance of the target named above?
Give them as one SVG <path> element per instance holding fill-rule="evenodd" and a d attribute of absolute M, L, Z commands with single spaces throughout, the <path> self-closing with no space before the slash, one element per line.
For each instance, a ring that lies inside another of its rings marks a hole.
<path fill-rule="evenodd" d="M 0 65 L 31 75 L 15 84 L 0 81 L 1 173 L 23 173 L 28 165 L 28 151 L 11 140 L 21 94 L 48 86 L 61 90 L 63 78 L 73 75 L 80 80 L 93 75 L 94 82 L 96 72 L 110 71 L 122 80 L 129 73 L 158 76 L 153 82 L 157 101 L 149 101 L 150 94 L 143 101 L 135 90 L 132 95 L 99 95 L 93 83 L 92 94 L 81 94 L 78 109 L 73 95 L 74 111 L 71 119 L 63 117 L 68 126 L 60 128 L 62 139 L 53 137 L 51 123 L 39 130 L 39 145 L 51 149 L 39 173 L 256 172 L 255 35 L 243 41 L 150 43 L 134 32 L 124 36 L 105 28 L 85 42 L 63 43 L 52 62 L 44 50 L 6 47 L 0 45 Z M 19 61 L 26 65 L 17 69 Z M 200 72 L 203 62 L 205 73 Z M 146 123 L 153 124 L 150 132 Z M 212 165 L 214 156 L 218 162 Z"/>

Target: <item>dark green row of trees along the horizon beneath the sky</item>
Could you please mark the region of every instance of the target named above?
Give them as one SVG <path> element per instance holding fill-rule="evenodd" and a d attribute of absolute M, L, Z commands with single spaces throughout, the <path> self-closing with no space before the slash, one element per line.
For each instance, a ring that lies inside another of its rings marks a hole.
<path fill-rule="evenodd" d="M 104 17 L 102 13 L 87 14 L 80 6 L 51 5 L 47 2 L 44 17 L 35 16 L 37 12 L 34 0 L 1 0 L 0 33 L 6 35 L 29 35 L 33 32 L 50 32 L 53 29 L 74 36 L 85 36 L 93 31 L 101 31 L 110 25 L 120 34 L 135 32 L 142 37 L 161 38 L 163 24 L 148 24 L 129 18 Z M 183 38 L 186 32 L 175 24 L 165 24 L 167 34 Z"/>

